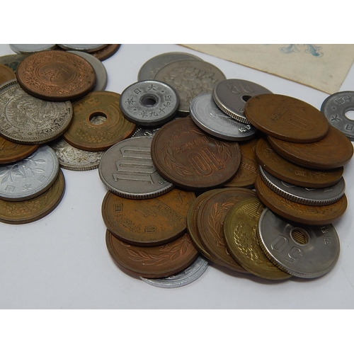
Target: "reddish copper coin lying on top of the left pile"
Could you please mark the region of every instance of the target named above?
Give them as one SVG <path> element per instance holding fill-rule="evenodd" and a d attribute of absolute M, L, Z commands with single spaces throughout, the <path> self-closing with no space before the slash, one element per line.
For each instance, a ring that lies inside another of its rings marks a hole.
<path fill-rule="evenodd" d="M 18 84 L 30 95 L 49 101 L 75 100 L 96 83 L 86 59 L 62 50 L 45 50 L 23 59 L 17 68 Z"/>

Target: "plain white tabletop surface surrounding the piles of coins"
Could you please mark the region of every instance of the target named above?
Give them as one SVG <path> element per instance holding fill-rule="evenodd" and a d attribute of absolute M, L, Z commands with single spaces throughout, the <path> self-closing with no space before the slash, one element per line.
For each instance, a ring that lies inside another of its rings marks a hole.
<path fill-rule="evenodd" d="M 178 45 L 121 45 L 103 61 L 107 91 L 121 93 L 140 67 L 163 52 L 190 52 L 215 64 L 227 79 L 245 79 L 316 108 L 329 95 Z M 0 45 L 0 55 L 14 54 Z M 354 67 L 341 91 L 354 90 Z M 352 118 L 353 119 L 353 118 Z M 176 289 L 153 287 L 124 273 L 105 246 L 101 203 L 106 193 L 98 170 L 62 170 L 67 189 L 45 218 L 0 224 L 1 309 L 353 309 L 354 161 L 345 168 L 348 209 L 334 224 L 341 241 L 338 263 L 321 278 L 271 282 L 210 265 L 197 281 Z"/>

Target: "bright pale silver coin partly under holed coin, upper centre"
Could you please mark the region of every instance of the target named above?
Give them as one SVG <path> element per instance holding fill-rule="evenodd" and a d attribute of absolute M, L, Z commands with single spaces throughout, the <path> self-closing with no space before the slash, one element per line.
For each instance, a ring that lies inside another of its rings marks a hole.
<path fill-rule="evenodd" d="M 202 93 L 190 103 L 190 118 L 201 130 L 225 140 L 251 139 L 258 130 L 250 124 L 237 122 L 220 110 L 211 93 Z"/>

